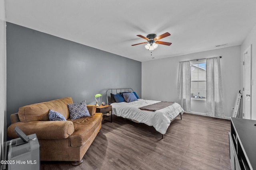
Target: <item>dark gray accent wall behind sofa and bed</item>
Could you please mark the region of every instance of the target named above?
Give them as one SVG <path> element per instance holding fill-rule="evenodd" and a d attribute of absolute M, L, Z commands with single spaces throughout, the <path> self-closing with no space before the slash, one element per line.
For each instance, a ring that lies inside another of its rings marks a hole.
<path fill-rule="evenodd" d="M 72 97 L 96 104 L 108 88 L 141 97 L 141 62 L 7 22 L 7 126 L 19 107 Z"/>

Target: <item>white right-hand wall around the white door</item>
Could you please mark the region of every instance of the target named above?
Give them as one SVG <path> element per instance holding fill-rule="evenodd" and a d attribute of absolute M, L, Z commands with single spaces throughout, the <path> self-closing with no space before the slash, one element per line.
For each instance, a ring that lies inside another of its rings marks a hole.
<path fill-rule="evenodd" d="M 250 33 L 247 35 L 246 39 L 241 45 L 241 61 L 243 61 L 243 53 L 244 51 L 252 45 L 252 81 L 254 81 L 252 85 L 252 119 L 256 120 L 256 25 L 252 28 Z M 241 67 L 242 69 L 242 67 Z M 241 72 L 242 74 L 242 72 Z M 242 80 L 242 76 L 241 76 Z M 242 82 L 242 81 L 241 81 Z M 242 84 L 241 84 L 242 88 Z"/>

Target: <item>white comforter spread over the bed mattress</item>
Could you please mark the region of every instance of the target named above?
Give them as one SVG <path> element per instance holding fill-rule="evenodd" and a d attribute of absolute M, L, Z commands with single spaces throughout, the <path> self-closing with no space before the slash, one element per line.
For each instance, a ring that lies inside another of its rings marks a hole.
<path fill-rule="evenodd" d="M 140 123 L 145 123 L 148 126 L 153 126 L 156 131 L 164 135 L 171 121 L 177 117 L 179 113 L 183 114 L 184 110 L 177 103 L 156 111 L 145 111 L 139 109 L 139 107 L 158 102 L 160 101 L 138 99 L 138 101 L 130 103 L 112 103 L 112 114 L 132 119 Z"/>

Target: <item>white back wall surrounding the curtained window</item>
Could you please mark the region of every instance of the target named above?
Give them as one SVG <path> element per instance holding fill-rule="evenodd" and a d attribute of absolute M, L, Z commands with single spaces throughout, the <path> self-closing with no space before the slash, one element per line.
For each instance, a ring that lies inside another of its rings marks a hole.
<path fill-rule="evenodd" d="M 224 113 L 232 115 L 236 94 L 240 90 L 240 45 L 188 55 L 142 62 L 142 98 L 176 101 L 179 61 L 222 56 L 220 59 Z"/>

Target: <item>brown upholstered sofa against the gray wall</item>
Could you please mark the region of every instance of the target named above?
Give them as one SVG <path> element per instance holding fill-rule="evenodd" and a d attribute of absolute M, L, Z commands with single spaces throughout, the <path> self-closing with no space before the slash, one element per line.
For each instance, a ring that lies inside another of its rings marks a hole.
<path fill-rule="evenodd" d="M 83 162 L 83 156 L 100 131 L 102 113 L 96 113 L 96 106 L 87 105 L 91 116 L 71 120 L 67 104 L 72 98 L 63 98 L 32 104 L 19 108 L 11 115 L 12 124 L 7 129 L 11 138 L 18 136 L 18 126 L 26 135 L 36 133 L 40 144 L 40 160 L 72 161 L 72 165 Z M 61 113 L 67 121 L 49 121 L 49 109 Z"/>

